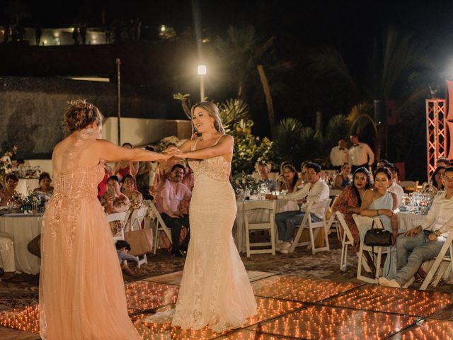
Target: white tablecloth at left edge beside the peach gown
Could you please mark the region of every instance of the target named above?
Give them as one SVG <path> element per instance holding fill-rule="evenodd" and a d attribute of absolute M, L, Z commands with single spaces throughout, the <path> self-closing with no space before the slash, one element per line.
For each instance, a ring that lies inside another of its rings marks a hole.
<path fill-rule="evenodd" d="M 27 249 L 28 242 L 41 233 L 42 216 L 0 217 L 0 232 L 7 232 L 14 242 L 16 270 L 22 273 L 40 272 L 40 259 Z"/>

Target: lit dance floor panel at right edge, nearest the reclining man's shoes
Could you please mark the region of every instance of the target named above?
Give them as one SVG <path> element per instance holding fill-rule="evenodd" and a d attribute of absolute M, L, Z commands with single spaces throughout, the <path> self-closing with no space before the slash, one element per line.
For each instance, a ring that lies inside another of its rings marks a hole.
<path fill-rule="evenodd" d="M 365 285 L 323 304 L 427 317 L 453 303 L 453 294 Z"/>

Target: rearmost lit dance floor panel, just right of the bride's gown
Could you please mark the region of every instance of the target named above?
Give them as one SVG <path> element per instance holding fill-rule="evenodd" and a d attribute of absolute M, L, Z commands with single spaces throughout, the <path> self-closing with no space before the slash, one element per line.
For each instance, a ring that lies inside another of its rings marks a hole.
<path fill-rule="evenodd" d="M 331 280 L 273 276 L 252 283 L 253 293 L 277 299 L 316 302 L 357 287 L 360 283 L 336 283 Z"/>

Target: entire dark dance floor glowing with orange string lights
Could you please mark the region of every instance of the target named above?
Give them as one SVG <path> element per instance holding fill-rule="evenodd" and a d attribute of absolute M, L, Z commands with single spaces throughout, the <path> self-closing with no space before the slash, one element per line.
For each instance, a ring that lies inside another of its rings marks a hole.
<path fill-rule="evenodd" d="M 126 285 L 129 313 L 143 339 L 452 339 L 453 293 L 248 271 L 258 314 L 240 329 L 212 333 L 152 324 L 174 307 L 182 272 Z M 36 305 L 0 313 L 0 339 L 40 339 Z M 20 331 L 19 331 L 19 330 Z"/>

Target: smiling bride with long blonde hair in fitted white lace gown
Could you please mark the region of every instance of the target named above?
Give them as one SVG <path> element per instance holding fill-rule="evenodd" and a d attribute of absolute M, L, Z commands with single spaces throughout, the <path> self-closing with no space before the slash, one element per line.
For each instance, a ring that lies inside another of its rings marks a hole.
<path fill-rule="evenodd" d="M 256 300 L 231 234 L 236 199 L 229 183 L 233 137 L 224 134 L 219 109 L 192 108 L 202 137 L 188 140 L 175 157 L 189 159 L 195 174 L 190 202 L 190 244 L 173 326 L 213 331 L 240 327 L 256 314 Z M 174 150 L 172 150 L 174 152 Z"/>

